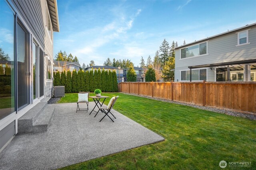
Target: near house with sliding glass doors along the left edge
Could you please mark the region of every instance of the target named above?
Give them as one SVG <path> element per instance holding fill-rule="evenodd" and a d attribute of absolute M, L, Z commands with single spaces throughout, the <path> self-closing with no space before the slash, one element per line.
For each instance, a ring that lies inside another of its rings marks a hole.
<path fill-rule="evenodd" d="M 18 133 L 18 119 L 52 96 L 53 31 L 59 32 L 59 22 L 56 0 L 0 0 L 0 16 L 1 48 L 12 67 L 0 76 L 1 152 Z"/>

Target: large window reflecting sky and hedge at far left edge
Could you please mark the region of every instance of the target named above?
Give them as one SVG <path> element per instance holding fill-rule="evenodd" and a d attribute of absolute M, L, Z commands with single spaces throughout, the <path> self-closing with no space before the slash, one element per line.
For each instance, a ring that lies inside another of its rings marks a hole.
<path fill-rule="evenodd" d="M 16 100 L 14 95 L 14 14 L 2 0 L 0 0 L 0 16 L 2 63 L 0 64 L 0 119 L 2 119 L 15 111 Z M 7 35 L 8 38 L 6 38 Z"/>

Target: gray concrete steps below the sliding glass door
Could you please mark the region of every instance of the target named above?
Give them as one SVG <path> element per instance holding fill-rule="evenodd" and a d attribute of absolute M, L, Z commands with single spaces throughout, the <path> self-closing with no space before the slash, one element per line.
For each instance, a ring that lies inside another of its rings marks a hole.
<path fill-rule="evenodd" d="M 40 102 L 20 119 L 18 119 L 18 134 L 41 133 L 48 131 L 54 115 L 55 106 Z"/>

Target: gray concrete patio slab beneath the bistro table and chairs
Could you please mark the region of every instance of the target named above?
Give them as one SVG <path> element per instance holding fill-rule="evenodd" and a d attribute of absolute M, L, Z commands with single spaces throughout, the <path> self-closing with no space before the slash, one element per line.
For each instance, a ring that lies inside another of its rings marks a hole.
<path fill-rule="evenodd" d="M 47 132 L 18 135 L 0 153 L 0 169 L 56 169 L 163 141 L 164 138 L 112 110 L 114 123 L 98 113 L 76 113 L 76 103 L 55 106 Z M 110 115 L 112 117 L 112 115 Z"/>

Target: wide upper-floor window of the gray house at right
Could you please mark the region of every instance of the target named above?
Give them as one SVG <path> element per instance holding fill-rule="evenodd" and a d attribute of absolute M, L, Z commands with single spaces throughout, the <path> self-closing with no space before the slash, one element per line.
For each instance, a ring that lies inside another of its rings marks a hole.
<path fill-rule="evenodd" d="M 207 54 L 207 42 L 186 47 L 180 50 L 180 58 L 185 59 L 188 57 L 195 57 Z"/>

